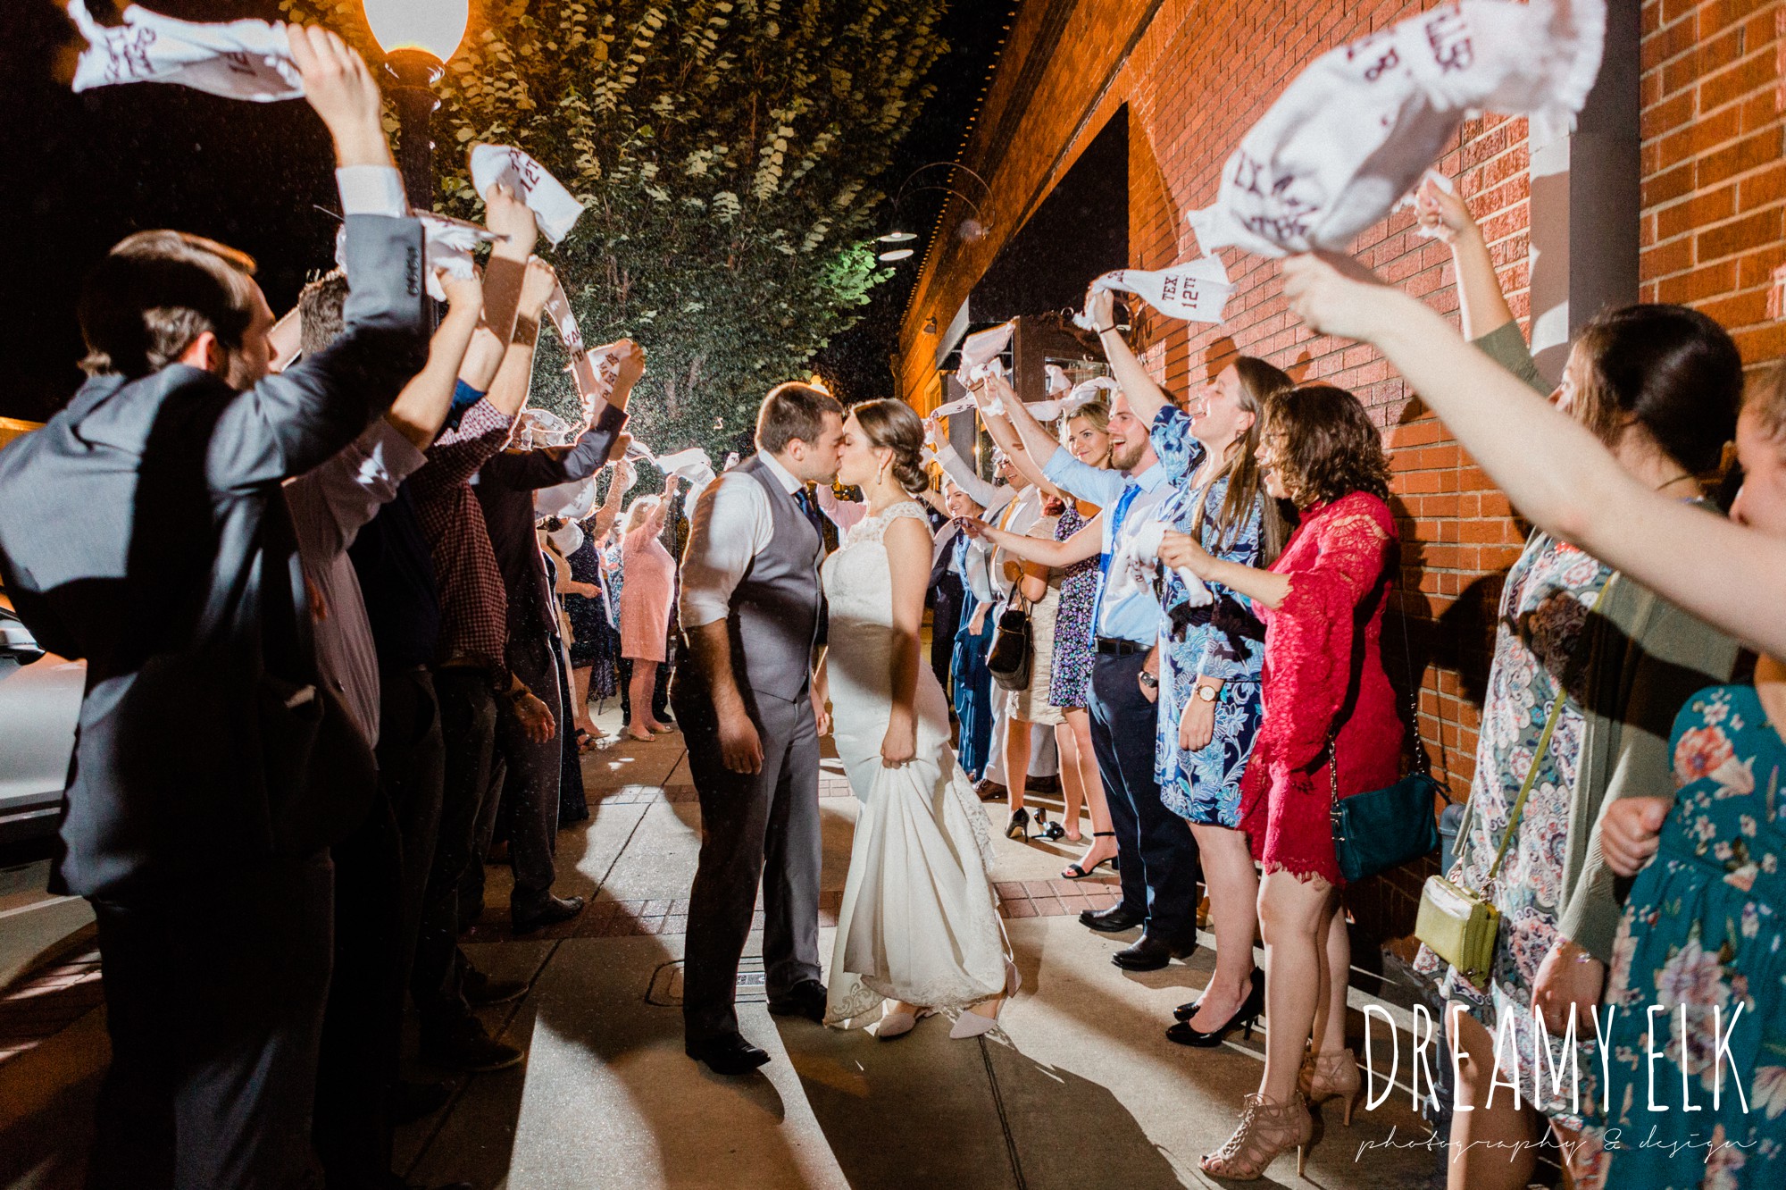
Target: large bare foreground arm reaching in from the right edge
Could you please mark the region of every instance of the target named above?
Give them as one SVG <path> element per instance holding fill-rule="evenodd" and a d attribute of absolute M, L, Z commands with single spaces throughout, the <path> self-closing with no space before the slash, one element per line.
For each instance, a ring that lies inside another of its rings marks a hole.
<path fill-rule="evenodd" d="M 1586 427 L 1457 338 L 1425 302 L 1313 256 L 1286 261 L 1284 281 L 1291 309 L 1309 325 L 1375 345 L 1532 524 L 1707 624 L 1786 656 L 1786 616 L 1772 597 L 1786 590 L 1786 541 L 1650 491 Z"/>

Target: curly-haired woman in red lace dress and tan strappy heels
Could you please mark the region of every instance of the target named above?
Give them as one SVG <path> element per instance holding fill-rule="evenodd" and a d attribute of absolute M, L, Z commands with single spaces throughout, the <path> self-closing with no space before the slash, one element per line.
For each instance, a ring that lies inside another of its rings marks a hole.
<path fill-rule="evenodd" d="M 1247 595 L 1266 625 L 1264 724 L 1241 788 L 1241 827 L 1264 865 L 1272 1031 L 1259 1094 L 1247 1097 L 1234 1136 L 1202 1161 L 1218 1177 L 1257 1177 L 1291 1147 L 1300 1174 L 1313 1131 L 1307 1099 L 1345 1097 L 1350 1122 L 1359 1092 L 1345 1045 L 1352 947 L 1329 811 L 1336 783 L 1340 797 L 1377 790 L 1397 781 L 1402 761 L 1379 649 L 1397 563 L 1382 436 L 1356 397 L 1311 384 L 1273 398 L 1259 461 L 1266 490 L 1302 515 L 1270 570 L 1211 557 L 1177 532 L 1159 550 L 1168 565 Z"/>

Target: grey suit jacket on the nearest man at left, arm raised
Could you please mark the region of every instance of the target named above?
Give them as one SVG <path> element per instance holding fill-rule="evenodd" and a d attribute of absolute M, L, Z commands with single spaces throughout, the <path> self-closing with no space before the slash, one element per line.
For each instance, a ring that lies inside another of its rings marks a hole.
<path fill-rule="evenodd" d="M 313 799 L 343 793 L 316 786 L 371 772 L 343 750 L 354 733 L 320 727 L 339 706 L 316 686 L 279 488 L 357 438 L 425 363 L 420 223 L 350 216 L 346 266 L 345 334 L 291 370 L 241 393 L 182 365 L 95 377 L 0 450 L 7 593 L 46 649 L 88 663 L 59 856 L 75 893 L 309 847 L 339 827 L 304 822 Z"/>

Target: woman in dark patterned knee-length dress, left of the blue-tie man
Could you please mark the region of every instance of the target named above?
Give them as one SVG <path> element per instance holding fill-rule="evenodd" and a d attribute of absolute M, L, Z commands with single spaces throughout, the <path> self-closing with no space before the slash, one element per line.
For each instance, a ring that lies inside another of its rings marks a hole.
<path fill-rule="evenodd" d="M 1061 445 L 1089 466 L 1111 465 L 1111 409 L 1102 400 L 1079 407 L 1061 427 Z M 1066 500 L 1054 525 L 1054 540 L 1066 541 L 1084 529 L 1097 506 Z M 1061 752 L 1061 795 L 1066 802 L 1063 822 L 1066 842 L 1079 842 L 1079 808 L 1091 813 L 1091 847 L 1061 872 L 1070 881 L 1084 879 L 1106 863 L 1116 861 L 1116 831 L 1104 800 L 1104 775 L 1091 750 L 1091 608 L 1098 597 L 1098 559 L 1073 563 L 1061 572 L 1061 604 L 1054 618 L 1054 674 L 1048 702 L 1061 708 L 1064 724 L 1054 729 Z"/>

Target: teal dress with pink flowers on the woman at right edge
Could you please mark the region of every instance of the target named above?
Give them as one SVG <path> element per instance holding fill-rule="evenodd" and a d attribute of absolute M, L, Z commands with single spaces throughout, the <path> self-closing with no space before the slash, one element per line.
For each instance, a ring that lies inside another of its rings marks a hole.
<path fill-rule="evenodd" d="M 1754 686 L 1713 686 L 1681 709 L 1673 758 L 1673 809 L 1613 951 L 1606 1185 L 1781 1186 L 1786 743 Z"/>

